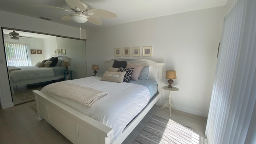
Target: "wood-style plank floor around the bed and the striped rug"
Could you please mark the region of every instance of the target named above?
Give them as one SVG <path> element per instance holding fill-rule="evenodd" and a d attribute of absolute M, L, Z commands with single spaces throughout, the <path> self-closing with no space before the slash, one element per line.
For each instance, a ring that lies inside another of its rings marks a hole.
<path fill-rule="evenodd" d="M 28 107 L 34 103 L 26 102 L 12 108 L 0 109 L 0 144 L 72 144 L 48 122 L 36 119 L 36 113 Z M 160 109 L 159 106 L 153 106 L 122 144 L 132 144 L 154 115 L 191 127 L 200 135 L 199 141 L 203 144 L 206 118 L 178 110 L 171 112 L 170 117 L 168 108 Z"/>

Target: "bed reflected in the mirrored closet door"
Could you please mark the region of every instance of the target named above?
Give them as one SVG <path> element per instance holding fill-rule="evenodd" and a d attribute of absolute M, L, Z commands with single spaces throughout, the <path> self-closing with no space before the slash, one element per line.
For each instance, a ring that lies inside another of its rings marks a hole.
<path fill-rule="evenodd" d="M 70 62 L 70 59 L 66 56 L 58 56 L 58 60 L 58 63 L 54 67 L 8 66 L 12 92 L 14 92 L 14 86 L 36 84 L 64 78 L 63 70 L 65 68 L 63 67 L 63 62 Z"/>

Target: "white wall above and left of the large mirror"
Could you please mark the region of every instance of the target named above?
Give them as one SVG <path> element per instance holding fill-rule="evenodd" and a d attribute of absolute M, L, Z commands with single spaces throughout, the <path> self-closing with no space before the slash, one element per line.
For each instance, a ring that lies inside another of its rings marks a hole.
<path fill-rule="evenodd" d="M 53 23 L 39 18 L 31 18 L 28 16 L 0 11 L 0 19 L 0 27 L 80 38 L 80 34 L 78 33 L 79 28 Z M 0 37 L 2 37 L 2 32 Z M 82 38 L 86 39 L 85 30 L 82 30 Z M 0 103 L 2 108 L 8 108 L 13 106 L 13 102 L 10 92 L 2 38 L 0 38 L 0 62 L 2 62 L 0 63 Z"/>

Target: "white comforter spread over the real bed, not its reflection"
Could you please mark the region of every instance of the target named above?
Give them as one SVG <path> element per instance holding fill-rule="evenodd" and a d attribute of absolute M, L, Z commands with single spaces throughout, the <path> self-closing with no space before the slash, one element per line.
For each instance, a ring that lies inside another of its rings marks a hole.
<path fill-rule="evenodd" d="M 106 82 L 100 81 L 100 79 L 99 77 L 91 76 L 65 81 L 109 93 L 107 97 L 96 102 L 92 107 L 83 106 L 78 102 L 47 94 L 44 88 L 41 92 L 112 128 L 113 133 L 110 135 L 110 143 L 113 143 L 120 137 L 122 130 L 124 130 L 132 118 L 148 104 L 150 93 L 146 86 L 126 82 Z"/>

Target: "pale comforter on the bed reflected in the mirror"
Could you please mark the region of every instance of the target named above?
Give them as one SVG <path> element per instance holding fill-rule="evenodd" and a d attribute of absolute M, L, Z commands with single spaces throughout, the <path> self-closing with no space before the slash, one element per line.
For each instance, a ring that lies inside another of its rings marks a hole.
<path fill-rule="evenodd" d="M 52 68 L 38 68 L 36 66 L 19 66 L 17 68 L 21 68 L 21 70 L 14 70 L 10 72 L 12 82 L 54 77 Z"/>

